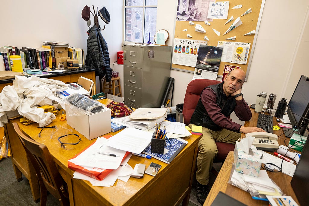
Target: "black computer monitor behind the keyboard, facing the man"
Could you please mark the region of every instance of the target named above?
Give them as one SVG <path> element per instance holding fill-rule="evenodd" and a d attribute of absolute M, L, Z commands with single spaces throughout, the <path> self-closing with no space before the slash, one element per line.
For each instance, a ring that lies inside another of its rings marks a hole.
<path fill-rule="evenodd" d="M 294 93 L 287 105 L 287 115 L 290 122 L 295 129 L 299 129 L 300 135 L 307 136 L 307 127 L 309 121 L 309 78 L 302 75 L 294 90 Z M 294 132 L 286 131 L 286 137 L 291 137 Z M 295 132 L 298 134 L 298 132 Z"/>

